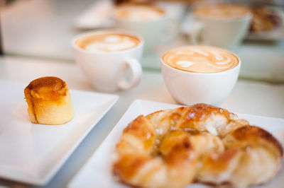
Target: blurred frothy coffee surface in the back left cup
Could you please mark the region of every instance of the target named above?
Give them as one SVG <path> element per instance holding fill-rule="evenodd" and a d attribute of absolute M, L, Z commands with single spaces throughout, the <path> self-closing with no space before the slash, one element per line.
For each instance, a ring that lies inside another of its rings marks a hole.
<path fill-rule="evenodd" d="M 125 20 L 146 21 L 162 18 L 165 11 L 154 6 L 124 6 L 117 9 L 115 16 Z"/>

